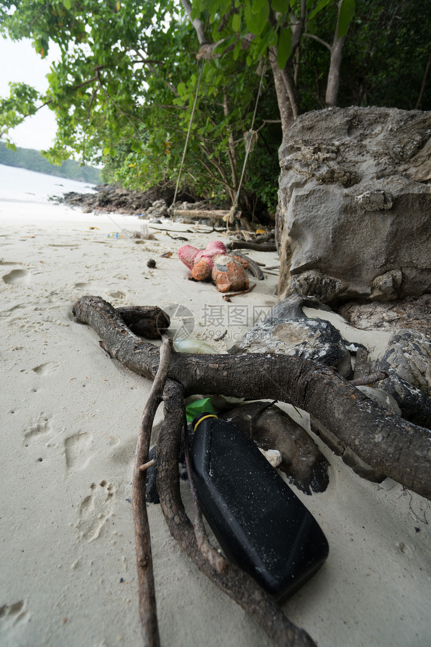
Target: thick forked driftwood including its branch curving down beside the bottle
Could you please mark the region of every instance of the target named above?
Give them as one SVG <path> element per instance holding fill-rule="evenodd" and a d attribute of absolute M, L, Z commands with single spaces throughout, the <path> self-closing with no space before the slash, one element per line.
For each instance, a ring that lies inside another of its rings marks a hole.
<path fill-rule="evenodd" d="M 89 323 L 98 333 L 111 356 L 135 373 L 154 379 L 159 349 L 134 335 L 109 303 L 85 296 L 76 302 L 73 313 L 77 322 Z M 308 633 L 291 624 L 252 578 L 234 565 L 226 574 L 218 573 L 198 548 L 180 498 L 178 474 L 184 397 L 194 393 L 276 399 L 309 411 L 363 461 L 428 499 L 431 432 L 390 414 L 335 369 L 297 357 L 267 353 L 171 356 L 163 391 L 165 419 L 157 447 L 158 494 L 169 530 L 202 572 L 246 609 L 277 646 L 311 647 L 314 643 Z"/>

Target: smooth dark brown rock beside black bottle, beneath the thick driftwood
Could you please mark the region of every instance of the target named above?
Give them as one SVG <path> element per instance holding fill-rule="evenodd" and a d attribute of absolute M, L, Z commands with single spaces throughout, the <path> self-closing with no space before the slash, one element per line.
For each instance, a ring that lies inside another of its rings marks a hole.
<path fill-rule="evenodd" d="M 273 404 L 260 413 L 266 404 L 243 404 L 218 417 L 235 424 L 259 448 L 279 450 L 280 470 L 303 492 L 324 492 L 329 483 L 328 461 L 308 433 L 278 406 Z"/>

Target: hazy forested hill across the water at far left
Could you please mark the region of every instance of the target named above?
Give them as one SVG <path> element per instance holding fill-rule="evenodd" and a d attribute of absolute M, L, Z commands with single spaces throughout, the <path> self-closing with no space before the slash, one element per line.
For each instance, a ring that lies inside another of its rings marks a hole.
<path fill-rule="evenodd" d="M 2 144 L 1 142 L 0 164 L 26 168 L 46 175 L 67 177 L 69 180 L 77 180 L 78 182 L 100 184 L 100 171 L 97 168 L 81 166 L 78 162 L 72 160 L 66 160 L 61 166 L 57 166 L 56 164 L 50 164 L 47 159 L 41 156 L 39 151 L 31 148 L 16 148 L 15 151 L 12 151 L 8 149 L 7 144 Z"/>

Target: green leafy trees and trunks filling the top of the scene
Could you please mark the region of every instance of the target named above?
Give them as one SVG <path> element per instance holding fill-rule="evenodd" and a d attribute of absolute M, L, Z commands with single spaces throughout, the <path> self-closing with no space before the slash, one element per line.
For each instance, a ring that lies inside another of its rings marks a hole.
<path fill-rule="evenodd" d="M 282 129 L 301 112 L 430 107 L 430 23 L 426 0 L 414 13 L 394 0 L 0 0 L 4 35 L 30 36 L 43 58 L 51 41 L 61 49 L 45 95 L 17 81 L 0 100 L 0 137 L 51 109 L 50 161 L 103 162 L 132 188 L 174 181 L 202 72 L 183 181 L 232 202 L 263 72 L 243 186 L 249 210 L 273 210 Z"/>

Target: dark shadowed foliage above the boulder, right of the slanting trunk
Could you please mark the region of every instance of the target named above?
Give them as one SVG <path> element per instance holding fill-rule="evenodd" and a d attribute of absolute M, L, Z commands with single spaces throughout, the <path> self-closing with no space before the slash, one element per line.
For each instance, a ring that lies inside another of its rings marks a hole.
<path fill-rule="evenodd" d="M 415 108 L 430 56 L 431 6 L 357 0 L 344 49 L 340 105 Z M 431 110 L 431 74 L 420 105 Z"/>

